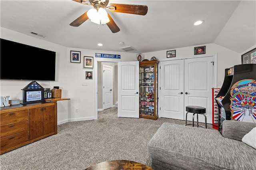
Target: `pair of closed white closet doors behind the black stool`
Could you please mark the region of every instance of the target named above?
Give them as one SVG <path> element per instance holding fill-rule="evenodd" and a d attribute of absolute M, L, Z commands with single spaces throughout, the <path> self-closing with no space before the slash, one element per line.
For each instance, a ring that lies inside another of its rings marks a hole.
<path fill-rule="evenodd" d="M 186 106 L 197 105 L 206 108 L 207 123 L 212 123 L 212 61 L 213 57 L 199 57 L 160 63 L 159 117 L 185 120 Z"/>

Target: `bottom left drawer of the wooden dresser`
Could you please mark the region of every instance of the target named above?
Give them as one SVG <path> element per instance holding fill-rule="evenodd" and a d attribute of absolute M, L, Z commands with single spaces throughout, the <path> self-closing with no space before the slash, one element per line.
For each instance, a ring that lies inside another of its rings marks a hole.
<path fill-rule="evenodd" d="M 28 132 L 23 132 L 20 134 L 8 136 L 6 138 L 1 138 L 0 140 L 1 150 L 11 148 L 13 146 L 22 144 L 27 141 L 28 141 Z"/>

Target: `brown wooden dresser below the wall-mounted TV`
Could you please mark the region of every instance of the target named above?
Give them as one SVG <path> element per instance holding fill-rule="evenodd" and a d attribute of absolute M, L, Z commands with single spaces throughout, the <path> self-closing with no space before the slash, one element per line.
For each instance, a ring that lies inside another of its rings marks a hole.
<path fill-rule="evenodd" d="M 57 103 L 0 108 L 0 154 L 57 134 Z"/>

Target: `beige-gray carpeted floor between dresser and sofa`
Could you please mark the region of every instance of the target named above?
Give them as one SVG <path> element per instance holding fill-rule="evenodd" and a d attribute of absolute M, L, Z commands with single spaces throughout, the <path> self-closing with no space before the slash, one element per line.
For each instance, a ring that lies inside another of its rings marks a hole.
<path fill-rule="evenodd" d="M 122 118 L 117 117 L 117 107 L 106 109 L 97 120 L 58 125 L 58 134 L 0 155 L 1 170 L 83 170 L 107 160 L 150 166 L 147 144 L 164 122 L 185 124 L 166 118 Z"/>

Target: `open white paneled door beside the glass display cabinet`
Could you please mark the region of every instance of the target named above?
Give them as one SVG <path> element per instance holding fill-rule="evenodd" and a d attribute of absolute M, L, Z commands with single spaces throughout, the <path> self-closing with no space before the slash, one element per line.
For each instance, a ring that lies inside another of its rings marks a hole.
<path fill-rule="evenodd" d="M 139 118 L 139 61 L 118 62 L 118 117 Z"/>

